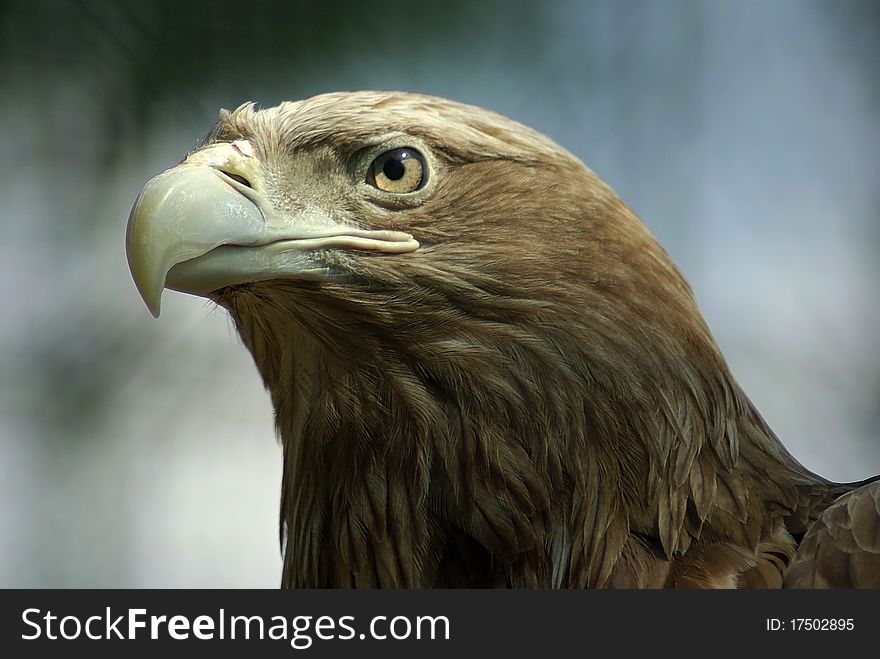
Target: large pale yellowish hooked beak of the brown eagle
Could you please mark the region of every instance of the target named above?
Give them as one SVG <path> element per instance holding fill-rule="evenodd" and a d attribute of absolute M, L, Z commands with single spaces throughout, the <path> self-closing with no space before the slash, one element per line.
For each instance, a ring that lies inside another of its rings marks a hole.
<path fill-rule="evenodd" d="M 147 182 L 128 218 L 126 254 L 147 308 L 159 316 L 165 288 L 209 297 L 268 279 L 314 279 L 315 250 L 402 254 L 418 249 L 400 231 L 343 226 L 332 216 L 274 209 L 262 169 L 244 140 L 214 144 Z"/>

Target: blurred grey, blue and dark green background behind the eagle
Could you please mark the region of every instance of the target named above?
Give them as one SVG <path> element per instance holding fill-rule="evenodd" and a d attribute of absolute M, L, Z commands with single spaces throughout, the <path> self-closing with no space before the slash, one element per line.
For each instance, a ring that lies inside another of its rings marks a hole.
<path fill-rule="evenodd" d="M 276 587 L 280 449 L 226 314 L 149 315 L 140 186 L 221 107 L 485 106 L 607 180 L 791 452 L 880 472 L 880 4 L 0 2 L 0 586 Z"/>

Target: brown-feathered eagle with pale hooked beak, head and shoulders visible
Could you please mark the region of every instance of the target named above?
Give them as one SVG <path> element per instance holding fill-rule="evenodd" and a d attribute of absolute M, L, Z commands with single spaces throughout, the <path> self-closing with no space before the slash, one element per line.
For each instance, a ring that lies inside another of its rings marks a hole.
<path fill-rule="evenodd" d="M 129 264 L 231 314 L 284 448 L 286 587 L 880 587 L 880 483 L 782 446 L 592 171 L 408 93 L 222 112 Z"/>

